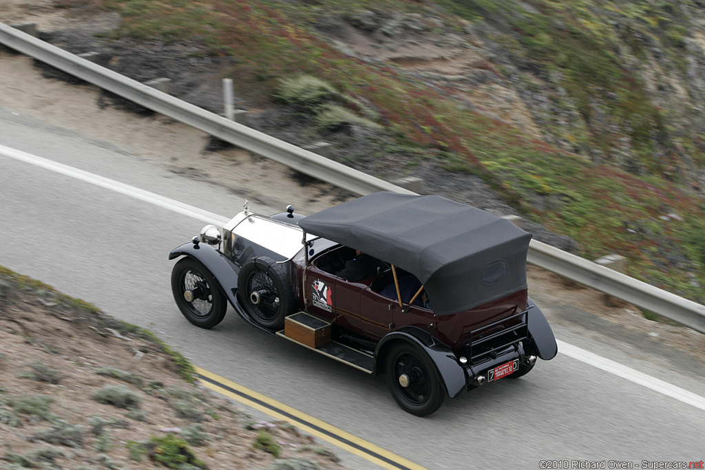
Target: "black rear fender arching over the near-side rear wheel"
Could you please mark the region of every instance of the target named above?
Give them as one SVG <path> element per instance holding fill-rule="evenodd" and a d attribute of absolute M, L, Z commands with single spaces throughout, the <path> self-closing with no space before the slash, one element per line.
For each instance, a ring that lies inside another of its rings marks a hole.
<path fill-rule="evenodd" d="M 424 350 L 431 358 L 431 361 L 434 361 L 434 364 L 436 364 L 436 369 L 438 369 L 441 374 L 441 379 L 446 385 L 446 391 L 451 398 L 460 397 L 460 395 L 467 391 L 467 376 L 465 370 L 460 366 L 458 359 L 456 359 L 450 347 L 439 342 L 421 328 L 414 326 L 400 328 L 392 333 L 388 333 L 388 335 L 380 340 L 374 352 L 373 373 L 375 375 L 384 369 L 384 364 L 381 364 L 381 361 L 378 361 L 378 359 L 384 357 L 384 352 L 393 340 L 411 342 Z"/>

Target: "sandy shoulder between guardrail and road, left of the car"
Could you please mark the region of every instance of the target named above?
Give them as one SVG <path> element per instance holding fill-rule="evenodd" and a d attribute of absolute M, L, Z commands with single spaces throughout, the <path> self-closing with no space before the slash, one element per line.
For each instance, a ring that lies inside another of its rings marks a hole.
<path fill-rule="evenodd" d="M 350 197 L 243 149 L 207 151 L 209 135 L 166 116 L 101 107 L 100 89 L 47 80 L 26 56 L 0 51 L 0 63 L 0 106 L 114 144 L 173 173 L 226 187 L 267 206 L 288 204 L 292 194 L 300 194 L 307 213 Z"/>

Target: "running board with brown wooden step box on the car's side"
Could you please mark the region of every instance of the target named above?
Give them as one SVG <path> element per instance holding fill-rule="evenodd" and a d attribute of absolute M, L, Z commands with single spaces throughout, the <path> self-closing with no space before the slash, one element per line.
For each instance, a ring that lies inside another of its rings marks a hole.
<path fill-rule="evenodd" d="M 305 312 L 299 312 L 298 314 L 288 316 L 285 324 L 287 329 L 277 331 L 276 334 L 278 336 L 295 342 L 309 350 L 319 352 L 324 356 L 336 359 L 336 361 L 341 361 L 343 364 L 348 364 L 348 366 L 355 367 L 355 369 L 359 369 L 360 371 L 372 373 L 372 369 L 374 368 L 374 358 L 372 356 L 356 350 L 353 347 L 343 345 L 340 342 L 325 338 L 329 335 L 329 333 L 326 335 L 325 332 L 329 331 L 330 323 L 306 314 Z M 294 328 L 291 328 L 292 326 Z M 299 334 L 300 330 L 310 330 L 312 336 L 302 338 Z M 289 336 L 286 335 L 287 331 L 290 333 Z M 323 338 L 321 338 L 321 335 Z M 309 340 L 309 338 L 311 339 Z M 323 339 L 323 341 L 321 341 L 321 339 Z"/>

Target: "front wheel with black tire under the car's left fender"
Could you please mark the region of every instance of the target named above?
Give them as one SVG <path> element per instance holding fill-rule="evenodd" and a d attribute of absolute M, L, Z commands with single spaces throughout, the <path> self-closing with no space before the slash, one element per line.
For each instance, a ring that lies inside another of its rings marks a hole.
<path fill-rule="evenodd" d="M 185 292 L 195 298 L 188 302 Z M 179 310 L 188 321 L 201 328 L 213 328 L 223 321 L 228 310 L 216 278 L 199 261 L 185 257 L 171 270 L 171 292 Z"/>

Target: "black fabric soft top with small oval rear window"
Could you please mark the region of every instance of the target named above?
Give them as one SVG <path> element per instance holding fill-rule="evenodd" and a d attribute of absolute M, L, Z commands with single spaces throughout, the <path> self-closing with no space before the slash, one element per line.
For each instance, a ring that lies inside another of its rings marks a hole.
<path fill-rule="evenodd" d="M 302 218 L 299 225 L 414 274 L 436 315 L 527 288 L 532 235 L 445 197 L 377 192 Z"/>

